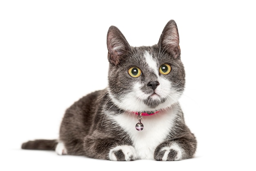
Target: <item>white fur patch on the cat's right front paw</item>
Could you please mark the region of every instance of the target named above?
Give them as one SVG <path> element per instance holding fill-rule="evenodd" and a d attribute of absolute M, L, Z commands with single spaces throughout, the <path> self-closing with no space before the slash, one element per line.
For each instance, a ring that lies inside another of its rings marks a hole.
<path fill-rule="evenodd" d="M 182 149 L 179 145 L 173 144 L 171 147 L 163 147 L 160 151 L 164 151 L 164 156 L 162 158 L 162 161 L 167 160 L 181 160 L 182 158 Z"/>

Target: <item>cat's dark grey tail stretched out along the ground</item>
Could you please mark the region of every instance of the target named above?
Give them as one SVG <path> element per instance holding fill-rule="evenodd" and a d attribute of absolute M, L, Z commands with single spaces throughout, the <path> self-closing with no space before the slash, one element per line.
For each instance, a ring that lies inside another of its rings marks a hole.
<path fill-rule="evenodd" d="M 24 142 L 22 149 L 55 150 L 58 140 L 34 140 Z"/>

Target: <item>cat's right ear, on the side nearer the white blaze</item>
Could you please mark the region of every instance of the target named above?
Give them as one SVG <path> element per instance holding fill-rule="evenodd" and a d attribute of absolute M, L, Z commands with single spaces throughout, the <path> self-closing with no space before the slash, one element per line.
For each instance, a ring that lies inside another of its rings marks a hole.
<path fill-rule="evenodd" d="M 173 54 L 174 58 L 180 58 L 179 33 L 174 20 L 170 20 L 160 36 L 158 46 L 162 50 Z"/>

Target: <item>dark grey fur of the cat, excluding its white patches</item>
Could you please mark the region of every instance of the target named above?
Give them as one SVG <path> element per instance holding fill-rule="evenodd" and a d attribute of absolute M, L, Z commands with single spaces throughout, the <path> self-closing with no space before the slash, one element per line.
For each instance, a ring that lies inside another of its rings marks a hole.
<path fill-rule="evenodd" d="M 108 88 L 92 92 L 76 101 L 68 108 L 63 117 L 60 128 L 59 141 L 63 142 L 70 155 L 83 155 L 91 158 L 110 160 L 110 150 L 122 145 L 133 147 L 134 143 L 128 132 L 122 129 L 119 123 L 113 121 L 112 117 L 124 114 L 125 108 L 120 107 L 117 102 L 122 103 L 126 98 L 130 87 L 137 82 L 141 85 L 141 92 L 145 94 L 154 93 L 157 85 L 153 88 L 150 82 L 156 82 L 158 77 L 172 82 L 176 94 L 182 94 L 185 86 L 185 71 L 180 60 L 179 35 L 176 23 L 171 20 L 166 24 L 159 42 L 153 46 L 132 47 L 126 41 L 124 35 L 115 26 L 111 26 L 107 36 L 109 75 Z M 157 65 L 170 64 L 171 72 L 168 75 L 156 75 L 146 61 L 144 53 L 147 51 L 153 56 Z M 133 78 L 128 74 L 132 66 L 139 67 L 143 74 Z M 168 99 L 159 100 L 149 96 L 143 100 L 144 105 L 151 111 L 164 110 L 159 108 Z M 132 109 L 132 104 L 130 104 Z M 179 108 L 175 117 L 173 127 L 169 134 L 163 137 L 154 152 L 155 160 L 162 160 L 166 152 L 166 160 L 175 160 L 178 151 L 164 147 L 172 147 L 173 144 L 182 149 L 179 160 L 193 157 L 197 142 L 195 136 L 184 123 L 183 113 L 177 101 L 168 107 Z M 141 111 L 143 112 L 143 111 Z M 167 129 L 167 128 L 166 128 Z M 147 141 L 147 140 L 145 140 Z M 149 142 L 150 143 L 150 142 Z M 22 149 L 54 149 L 55 140 L 35 140 L 22 144 Z M 135 160 L 136 155 L 130 155 L 128 159 L 121 149 L 114 151 L 117 160 Z"/>

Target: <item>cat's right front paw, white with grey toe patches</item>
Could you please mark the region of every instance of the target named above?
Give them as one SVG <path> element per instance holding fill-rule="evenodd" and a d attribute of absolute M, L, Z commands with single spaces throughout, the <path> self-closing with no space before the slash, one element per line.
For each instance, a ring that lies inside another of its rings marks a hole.
<path fill-rule="evenodd" d="M 158 161 L 177 161 L 182 159 L 182 148 L 177 144 L 170 147 L 158 147 L 154 153 L 155 160 Z"/>

